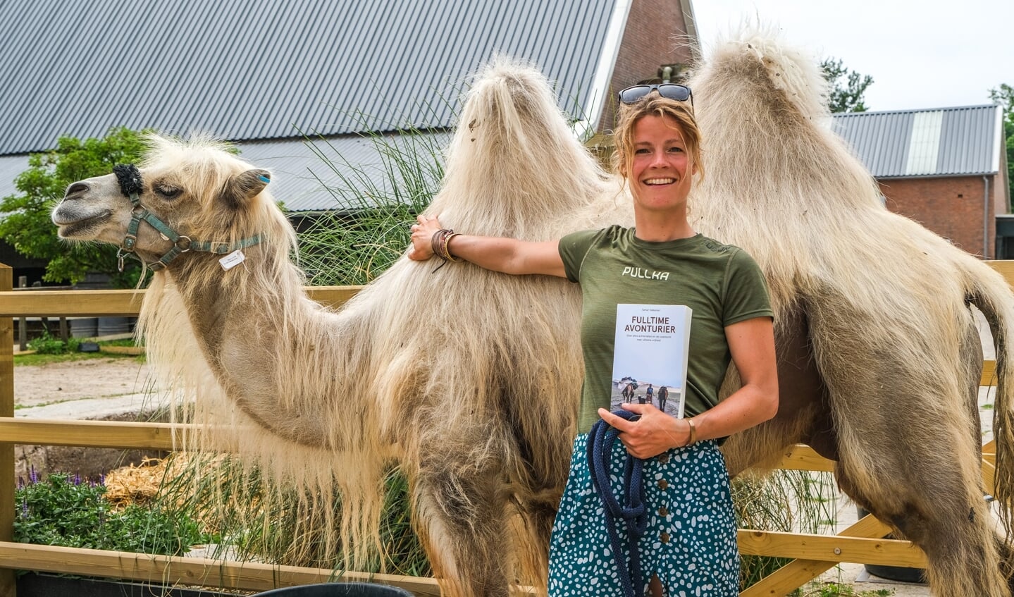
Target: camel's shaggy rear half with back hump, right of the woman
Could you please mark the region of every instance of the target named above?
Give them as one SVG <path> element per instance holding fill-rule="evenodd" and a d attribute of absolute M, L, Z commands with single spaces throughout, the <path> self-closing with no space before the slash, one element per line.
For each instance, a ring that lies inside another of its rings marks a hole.
<path fill-rule="evenodd" d="M 1009 525 L 1011 289 L 887 211 L 830 131 L 812 59 L 745 35 L 718 47 L 691 85 L 709 164 L 691 222 L 753 255 L 776 313 L 779 414 L 726 444 L 730 472 L 808 443 L 838 461 L 846 494 L 926 551 L 935 595 L 1009 595 L 1009 549 L 983 499 L 983 355 L 968 305 L 997 341 L 996 497 Z"/>

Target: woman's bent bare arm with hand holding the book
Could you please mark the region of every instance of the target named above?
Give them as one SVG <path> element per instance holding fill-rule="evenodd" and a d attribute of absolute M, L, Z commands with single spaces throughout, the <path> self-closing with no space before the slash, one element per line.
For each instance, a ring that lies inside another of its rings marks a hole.
<path fill-rule="evenodd" d="M 732 435 L 773 418 L 778 412 L 775 331 L 770 317 L 755 317 L 725 328 L 732 362 L 742 386 L 717 405 L 694 417 L 695 440 Z M 620 441 L 638 458 L 650 458 L 690 441 L 685 419 L 673 419 L 651 404 L 624 404 L 641 419 L 629 422 L 599 408 L 599 416 L 620 430 Z"/>

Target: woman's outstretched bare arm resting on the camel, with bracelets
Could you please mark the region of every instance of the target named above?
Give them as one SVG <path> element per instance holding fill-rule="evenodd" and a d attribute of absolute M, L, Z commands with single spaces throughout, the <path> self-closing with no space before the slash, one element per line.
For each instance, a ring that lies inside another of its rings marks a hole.
<path fill-rule="evenodd" d="M 436 218 L 419 216 L 412 226 L 409 258 L 423 262 L 433 256 L 433 235 L 440 231 Z M 514 238 L 455 234 L 447 251 L 481 268 L 504 274 L 546 274 L 566 278 L 559 241 L 529 242 Z"/>

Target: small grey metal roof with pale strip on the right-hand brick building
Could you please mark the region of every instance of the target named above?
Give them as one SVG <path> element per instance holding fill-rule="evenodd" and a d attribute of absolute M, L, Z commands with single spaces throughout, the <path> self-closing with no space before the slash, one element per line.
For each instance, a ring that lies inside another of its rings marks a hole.
<path fill-rule="evenodd" d="M 998 105 L 834 115 L 835 131 L 877 178 L 995 174 Z"/>

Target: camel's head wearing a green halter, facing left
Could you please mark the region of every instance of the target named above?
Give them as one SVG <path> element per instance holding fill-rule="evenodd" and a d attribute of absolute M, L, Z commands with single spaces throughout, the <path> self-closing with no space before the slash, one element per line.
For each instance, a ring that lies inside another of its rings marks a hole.
<path fill-rule="evenodd" d="M 208 138 L 147 139 L 140 165 L 78 180 L 53 210 L 61 238 L 117 244 L 154 270 L 188 255 L 221 257 L 291 226 L 258 169 Z M 207 253 L 211 253 L 208 255 Z"/>

